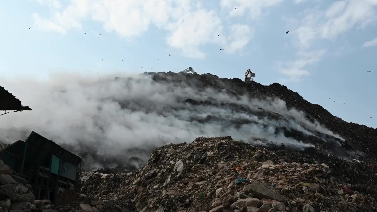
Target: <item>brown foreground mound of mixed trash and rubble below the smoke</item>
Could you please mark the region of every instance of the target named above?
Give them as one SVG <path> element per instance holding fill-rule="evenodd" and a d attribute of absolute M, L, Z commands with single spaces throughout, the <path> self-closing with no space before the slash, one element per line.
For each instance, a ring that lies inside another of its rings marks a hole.
<path fill-rule="evenodd" d="M 375 199 L 352 191 L 352 185 L 331 171 L 332 164 L 287 163 L 281 158 L 274 151 L 231 137 L 167 144 L 155 149 L 149 162 L 136 171 L 82 173 L 81 199 L 61 211 L 377 210 Z"/>

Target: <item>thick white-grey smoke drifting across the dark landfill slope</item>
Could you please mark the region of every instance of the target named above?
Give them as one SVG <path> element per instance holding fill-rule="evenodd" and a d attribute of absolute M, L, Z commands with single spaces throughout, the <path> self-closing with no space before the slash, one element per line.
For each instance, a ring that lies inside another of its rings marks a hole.
<path fill-rule="evenodd" d="M 185 83 L 158 83 L 150 75 L 114 80 L 113 76 L 60 74 L 48 80 L 19 78 L 0 83 L 32 108 L 0 117 L 0 128 L 22 129 L 18 134 L 4 131 L 0 141 L 13 143 L 25 139 L 25 131 L 26 136 L 35 131 L 71 147 L 92 170 L 135 164 L 129 160 L 133 156 L 145 162 L 155 147 L 200 136 L 230 135 L 251 144 L 296 149 L 314 145 L 286 136 L 286 131 L 307 137 L 319 137 L 320 132 L 344 141 L 317 121 L 307 120 L 303 112 L 287 109 L 280 99 L 262 101 L 215 89 L 200 91 Z"/>

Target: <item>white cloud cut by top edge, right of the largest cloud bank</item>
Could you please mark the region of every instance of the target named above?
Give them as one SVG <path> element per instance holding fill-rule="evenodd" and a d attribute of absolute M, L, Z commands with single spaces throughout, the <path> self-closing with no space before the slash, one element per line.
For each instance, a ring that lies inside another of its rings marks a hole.
<path fill-rule="evenodd" d="M 230 16 L 249 15 L 251 18 L 259 18 L 262 10 L 279 5 L 283 0 L 221 0 L 220 5 L 223 9 L 229 10 Z M 238 9 L 233 9 L 238 8 Z"/>

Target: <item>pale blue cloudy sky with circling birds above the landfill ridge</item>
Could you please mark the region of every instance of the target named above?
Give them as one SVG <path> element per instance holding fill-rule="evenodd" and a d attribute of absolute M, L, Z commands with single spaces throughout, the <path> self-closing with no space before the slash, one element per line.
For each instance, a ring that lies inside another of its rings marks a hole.
<path fill-rule="evenodd" d="M 377 128 L 377 0 L 14 0 L 0 20 L 0 85 L 189 66 L 243 79 L 250 68 Z"/>

